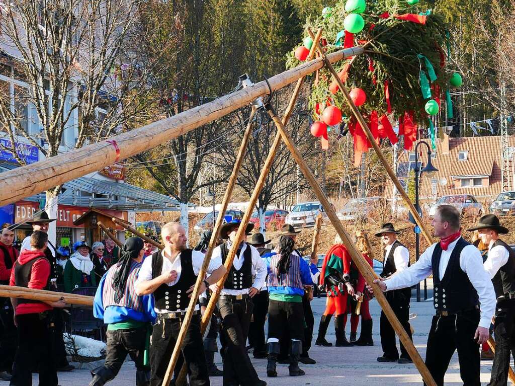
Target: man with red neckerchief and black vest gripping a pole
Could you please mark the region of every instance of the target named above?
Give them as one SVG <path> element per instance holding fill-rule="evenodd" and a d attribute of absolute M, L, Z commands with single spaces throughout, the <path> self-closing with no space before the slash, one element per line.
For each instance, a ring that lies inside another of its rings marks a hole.
<path fill-rule="evenodd" d="M 436 315 L 427 338 L 425 364 L 436 384 L 442 386 L 457 349 L 464 385 L 480 386 L 479 344 L 489 336 L 495 293 L 479 250 L 460 237 L 459 217 L 455 207 L 440 205 L 432 221 L 440 242 L 427 248 L 419 261 L 403 272 L 374 282 L 383 291 L 392 291 L 411 287 L 433 274 Z"/>

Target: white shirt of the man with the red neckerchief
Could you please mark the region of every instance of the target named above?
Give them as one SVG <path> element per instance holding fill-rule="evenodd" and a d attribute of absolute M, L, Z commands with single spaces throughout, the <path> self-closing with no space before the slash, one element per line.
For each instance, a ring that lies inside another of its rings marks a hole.
<path fill-rule="evenodd" d="M 438 266 L 440 280 L 445 274 L 449 258 L 458 240 L 449 244 L 447 250 L 442 250 L 440 265 Z M 414 286 L 431 275 L 433 273 L 431 260 L 436 244 L 437 243 L 427 248 L 422 256 L 420 256 L 419 261 L 415 264 L 406 268 L 403 272 L 385 280 L 384 283 L 386 284 L 387 291 Z M 463 248 L 459 256 L 459 266 L 461 270 L 467 274 L 479 296 L 481 311 L 479 326 L 490 328 L 490 323 L 495 313 L 495 292 L 493 291 L 492 280 L 483 268 L 483 258 L 481 257 L 479 249 L 473 245 L 467 245 Z"/>

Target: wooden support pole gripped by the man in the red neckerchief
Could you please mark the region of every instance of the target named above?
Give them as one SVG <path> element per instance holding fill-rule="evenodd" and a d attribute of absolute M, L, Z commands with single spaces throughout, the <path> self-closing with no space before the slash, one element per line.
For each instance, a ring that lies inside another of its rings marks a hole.
<path fill-rule="evenodd" d="M 304 174 L 304 177 L 306 180 L 310 183 L 311 187 L 313 188 L 316 196 L 318 197 L 320 203 L 325 209 L 325 213 L 327 213 L 329 219 L 333 223 L 334 227 L 336 228 L 336 231 L 338 232 L 341 240 L 344 242 L 345 246 L 347 247 L 347 250 L 349 251 L 352 260 L 356 264 L 359 272 L 365 277 L 365 280 L 367 283 L 371 284 L 374 289 L 374 294 L 381 305 L 381 308 L 383 309 L 386 317 L 388 318 L 388 321 L 392 325 L 393 329 L 397 332 L 397 335 L 399 335 L 399 339 L 406 348 L 406 351 L 408 351 L 409 356 L 413 360 L 413 363 L 417 366 L 420 374 L 422 375 L 422 378 L 424 379 L 425 383 L 428 386 L 436 386 L 436 383 L 429 372 L 427 370 L 427 367 L 420 357 L 420 354 L 418 353 L 417 349 L 413 345 L 413 342 L 411 339 L 409 339 L 408 334 L 404 330 L 404 327 L 402 327 L 401 323 L 399 322 L 397 316 L 391 309 L 388 301 L 386 300 L 386 297 L 377 286 L 377 284 L 373 283 L 374 279 L 377 278 L 375 274 L 372 274 L 370 270 L 370 264 L 365 260 L 363 255 L 359 253 L 359 251 L 356 249 L 354 243 L 352 242 L 349 234 L 345 231 L 345 228 L 341 225 L 340 221 L 338 220 L 338 216 L 336 215 L 336 212 L 334 211 L 331 203 L 323 193 L 322 189 L 320 188 L 320 185 L 318 184 L 315 176 L 311 172 L 310 168 L 307 166 L 306 162 L 303 160 L 302 156 L 299 153 L 299 150 L 295 146 L 293 140 L 291 139 L 289 133 L 286 131 L 286 128 L 282 124 L 281 120 L 279 120 L 278 116 L 276 115 L 275 111 L 273 110 L 271 105 L 266 106 L 268 114 L 272 118 L 273 122 L 276 124 L 278 131 L 281 134 L 281 137 L 286 144 L 286 147 L 289 149 L 291 155 L 293 156 L 294 160 L 297 162 L 297 164 L 300 167 L 300 170 L 302 171 L 302 174 Z"/>

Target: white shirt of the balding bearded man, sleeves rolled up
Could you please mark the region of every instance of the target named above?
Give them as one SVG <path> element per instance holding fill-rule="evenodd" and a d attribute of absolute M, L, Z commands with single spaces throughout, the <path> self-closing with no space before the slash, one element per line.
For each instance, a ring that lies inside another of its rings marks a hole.
<path fill-rule="evenodd" d="M 169 283 L 166 283 L 167 286 L 171 287 L 175 283 L 179 281 L 179 278 L 181 277 L 181 254 L 179 253 L 175 260 L 171 262 L 167 257 L 164 256 L 164 250 L 161 251 L 161 256 L 163 257 L 163 267 L 161 268 L 161 272 L 159 272 L 159 275 L 161 275 L 163 272 L 170 272 L 170 271 L 176 271 L 177 272 L 177 279 L 170 281 Z M 192 250 L 192 265 L 193 265 L 193 272 L 195 275 L 198 276 L 198 273 L 200 272 L 200 268 L 202 267 L 202 263 L 204 262 L 204 254 L 199 250 Z M 209 262 L 207 274 L 211 275 L 214 270 L 216 270 L 220 265 L 222 265 L 222 261 L 219 257 L 211 256 L 211 261 Z M 141 283 L 143 281 L 152 280 L 152 258 L 149 256 L 145 260 L 143 260 L 143 264 L 140 268 L 140 273 L 138 274 L 138 279 L 136 279 L 136 284 Z M 154 308 L 156 312 L 168 312 L 166 310 L 160 310 L 158 308 Z M 199 310 L 198 304 L 195 306 L 195 310 Z M 177 310 L 177 311 L 185 311 L 185 310 Z"/>

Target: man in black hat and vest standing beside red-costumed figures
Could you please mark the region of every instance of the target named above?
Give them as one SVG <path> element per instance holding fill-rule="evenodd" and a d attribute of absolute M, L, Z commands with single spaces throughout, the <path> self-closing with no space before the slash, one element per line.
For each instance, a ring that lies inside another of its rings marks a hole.
<path fill-rule="evenodd" d="M 399 242 L 399 240 L 397 240 L 398 234 L 399 232 L 395 230 L 391 223 L 383 224 L 381 229 L 375 233 L 375 236 L 380 237 L 385 246 L 383 272 L 380 275 L 383 278 L 398 274 L 409 266 L 409 251 Z M 410 297 L 411 290 L 409 288 L 390 291 L 386 294 L 386 300 L 388 300 L 393 312 L 397 315 L 399 322 L 401 322 L 404 330 L 406 330 L 406 333 L 411 339 L 411 327 L 409 325 Z M 399 342 L 401 346 L 401 356 L 399 357 L 399 351 L 397 351 L 396 346 L 395 330 L 383 311 L 381 311 L 379 326 L 381 328 L 381 346 L 383 347 L 383 356 L 377 358 L 377 362 L 411 363 L 411 358 L 409 358 L 402 342 Z"/>

